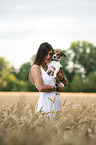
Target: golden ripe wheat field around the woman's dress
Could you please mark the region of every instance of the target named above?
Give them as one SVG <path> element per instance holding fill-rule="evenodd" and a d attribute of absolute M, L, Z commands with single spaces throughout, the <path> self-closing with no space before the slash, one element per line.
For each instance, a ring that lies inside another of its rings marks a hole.
<path fill-rule="evenodd" d="M 96 145 L 96 94 L 60 93 L 53 118 L 35 112 L 39 93 L 0 93 L 0 145 Z"/>

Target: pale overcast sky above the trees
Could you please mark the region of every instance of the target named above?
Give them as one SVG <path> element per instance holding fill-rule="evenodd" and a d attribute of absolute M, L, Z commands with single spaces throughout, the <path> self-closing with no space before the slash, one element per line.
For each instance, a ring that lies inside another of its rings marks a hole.
<path fill-rule="evenodd" d="M 96 0 L 0 0 L 0 56 L 15 68 L 43 42 L 66 50 L 78 40 L 96 45 Z"/>

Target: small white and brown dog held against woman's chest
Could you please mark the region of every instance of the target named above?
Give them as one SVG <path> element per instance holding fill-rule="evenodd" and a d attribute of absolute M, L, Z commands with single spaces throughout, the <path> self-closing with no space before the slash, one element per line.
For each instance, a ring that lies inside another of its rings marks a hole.
<path fill-rule="evenodd" d="M 53 76 L 56 79 L 57 79 L 57 74 L 60 71 L 60 68 L 62 68 L 62 65 L 60 64 L 61 57 L 66 57 L 66 55 L 63 52 L 54 50 L 52 60 L 48 64 L 47 74 Z M 62 85 L 64 86 L 63 83 Z"/>

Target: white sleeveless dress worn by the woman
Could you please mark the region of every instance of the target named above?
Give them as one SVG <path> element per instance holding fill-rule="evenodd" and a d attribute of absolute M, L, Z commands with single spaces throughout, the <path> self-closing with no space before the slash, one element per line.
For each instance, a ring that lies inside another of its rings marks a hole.
<path fill-rule="evenodd" d="M 42 79 L 43 83 L 50 86 L 55 86 L 56 79 L 52 76 L 49 76 L 46 71 L 41 66 Z M 60 94 L 57 92 L 39 92 L 40 97 L 38 99 L 36 112 L 38 112 L 41 108 L 43 112 L 50 112 L 53 110 L 59 111 L 61 109 L 61 99 Z M 52 101 L 54 100 L 54 101 Z M 52 114 L 48 113 L 48 116 L 51 117 Z"/>

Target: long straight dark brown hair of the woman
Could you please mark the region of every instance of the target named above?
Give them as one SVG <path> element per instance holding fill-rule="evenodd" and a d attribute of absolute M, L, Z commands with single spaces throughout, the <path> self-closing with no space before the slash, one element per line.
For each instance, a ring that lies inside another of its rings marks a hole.
<path fill-rule="evenodd" d="M 37 51 L 33 64 L 40 65 L 42 63 L 44 57 L 47 55 L 48 51 L 50 51 L 51 49 L 53 51 L 53 48 L 49 43 L 47 43 L 47 42 L 42 43 L 39 46 L 39 49 Z"/>

